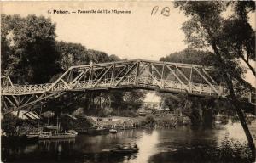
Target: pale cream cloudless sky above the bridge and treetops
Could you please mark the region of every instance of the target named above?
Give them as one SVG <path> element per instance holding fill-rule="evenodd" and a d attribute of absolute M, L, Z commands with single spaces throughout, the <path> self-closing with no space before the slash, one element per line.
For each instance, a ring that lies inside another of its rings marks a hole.
<path fill-rule="evenodd" d="M 151 15 L 153 8 L 158 10 Z M 168 16 L 161 14 L 163 8 L 170 10 Z M 112 13 L 115 9 L 131 14 Z M 54 14 L 54 10 L 71 14 Z M 78 14 L 78 10 L 95 10 L 96 14 Z M 109 10 L 110 14 L 98 14 L 98 10 Z M 187 47 L 181 30 L 187 18 L 172 2 L 2 2 L 1 11 L 44 15 L 56 24 L 56 40 L 81 43 L 121 59 L 159 60 Z M 250 16 L 255 29 L 255 14 Z M 252 75 L 247 74 L 247 80 L 255 84 Z M 159 100 L 154 93 L 146 99 Z"/>

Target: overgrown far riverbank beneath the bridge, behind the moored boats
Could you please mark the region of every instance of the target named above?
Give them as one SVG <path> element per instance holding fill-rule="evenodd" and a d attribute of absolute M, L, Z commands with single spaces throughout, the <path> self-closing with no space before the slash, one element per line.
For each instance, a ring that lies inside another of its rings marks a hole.
<path fill-rule="evenodd" d="M 250 119 L 255 119 L 255 117 L 250 117 Z M 46 120 L 41 120 L 40 126 L 54 126 L 56 124 L 55 118 L 49 119 L 50 122 L 47 124 Z M 235 121 L 236 118 L 232 118 Z M 16 120 L 17 121 L 17 120 Z M 79 132 L 79 134 L 91 134 L 91 135 L 101 135 L 108 134 L 109 129 L 114 128 L 116 130 L 131 130 L 134 128 L 177 128 L 178 126 L 190 126 L 191 122 L 189 117 L 181 116 L 177 114 L 149 114 L 145 116 L 136 117 L 124 117 L 124 116 L 108 116 L 108 117 L 96 117 L 96 116 L 86 116 L 84 113 L 79 113 L 77 115 L 62 114 L 58 118 L 60 127 L 60 132 L 67 132 L 69 130 L 74 130 Z M 248 121 L 248 124 L 252 120 Z M 214 121 L 213 121 L 214 122 Z M 228 117 L 219 116 L 216 119 L 216 124 L 227 124 Z M 23 121 L 20 126 L 20 134 L 26 134 L 28 132 L 39 132 L 38 121 Z M 45 124 L 45 125 L 44 125 Z M 42 131 L 44 132 L 44 131 Z M 47 132 L 47 131 L 45 131 Z M 12 132 L 9 132 L 12 133 Z M 20 135 L 19 133 L 13 133 L 12 135 Z M 8 136 L 8 135 L 7 135 Z M 256 137 L 253 135 L 253 137 Z"/>

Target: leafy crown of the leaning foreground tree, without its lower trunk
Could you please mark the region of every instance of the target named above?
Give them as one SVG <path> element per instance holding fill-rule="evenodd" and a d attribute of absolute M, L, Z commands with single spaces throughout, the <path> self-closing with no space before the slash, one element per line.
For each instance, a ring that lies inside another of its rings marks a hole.
<path fill-rule="evenodd" d="M 218 49 L 224 64 L 218 63 L 218 59 L 213 63 L 216 63 L 216 66 L 225 65 L 223 68 L 239 81 L 242 81 L 241 74 L 244 70 L 238 59 L 245 61 L 255 76 L 253 66 L 249 63 L 250 59 L 255 59 L 253 53 L 255 35 L 247 19 L 247 8 L 251 8 L 250 11 L 254 11 L 255 8 L 240 2 L 175 2 L 174 4 L 190 18 L 183 23 L 183 31 L 189 45 L 195 48 L 212 48 L 214 52 Z M 233 7 L 234 14 L 224 19 L 222 14 L 225 14 L 228 6 Z"/>

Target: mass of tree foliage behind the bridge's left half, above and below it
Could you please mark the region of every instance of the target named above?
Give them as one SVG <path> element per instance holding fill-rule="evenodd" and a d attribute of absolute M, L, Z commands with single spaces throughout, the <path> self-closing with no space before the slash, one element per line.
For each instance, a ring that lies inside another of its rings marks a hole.
<path fill-rule="evenodd" d="M 118 56 L 80 43 L 55 40 L 55 23 L 44 16 L 1 14 L 1 69 L 17 84 L 55 82 L 72 65 L 87 65 L 120 60 Z M 111 98 L 113 108 L 138 108 L 144 98 L 142 91 L 105 93 Z M 72 112 L 79 107 L 90 108 L 89 99 L 101 93 L 84 95 L 67 94 L 44 104 L 44 110 Z M 103 93 L 104 95 L 104 93 Z M 105 96 L 104 95 L 104 96 Z M 124 100 L 125 98 L 125 100 Z"/>

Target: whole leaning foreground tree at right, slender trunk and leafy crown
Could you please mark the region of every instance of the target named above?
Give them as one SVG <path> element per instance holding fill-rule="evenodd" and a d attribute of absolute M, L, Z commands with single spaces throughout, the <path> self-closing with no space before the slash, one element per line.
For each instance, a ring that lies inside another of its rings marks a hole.
<path fill-rule="evenodd" d="M 193 46 L 201 46 L 201 48 L 212 48 L 216 58 L 214 66 L 219 70 L 219 74 L 224 76 L 224 82 L 230 92 L 230 99 L 239 116 L 249 147 L 252 150 L 253 160 L 255 160 L 253 138 L 241 111 L 240 97 L 235 93 L 236 85 L 234 84 L 236 80 L 243 87 L 250 88 L 253 92 L 255 91 L 254 87 L 243 79 L 244 70 L 242 70 L 238 60 L 244 56 L 247 56 L 246 59 L 253 58 L 250 56 L 253 56 L 251 52 L 255 48 L 251 43 L 254 35 L 252 27 L 248 23 L 247 14 L 255 10 L 255 3 L 214 1 L 174 2 L 174 5 L 190 18 L 183 24 L 183 31 L 185 32 L 187 42 Z M 228 19 L 225 19 L 222 14 L 224 14 L 228 6 L 235 12 Z M 239 26 L 238 30 L 236 25 Z M 239 28 L 243 29 L 243 32 L 246 33 L 244 36 L 236 33 L 240 32 Z M 233 36 L 235 36 L 235 39 Z M 255 71 L 248 65 L 249 63 L 245 63 L 255 76 Z"/>

